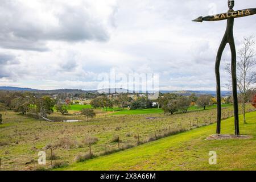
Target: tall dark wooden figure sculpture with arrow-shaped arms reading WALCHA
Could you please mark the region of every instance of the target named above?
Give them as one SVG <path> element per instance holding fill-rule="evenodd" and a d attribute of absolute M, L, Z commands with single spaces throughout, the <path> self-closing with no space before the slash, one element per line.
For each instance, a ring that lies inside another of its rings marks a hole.
<path fill-rule="evenodd" d="M 235 124 L 235 135 L 239 136 L 239 118 L 238 118 L 238 98 L 237 98 L 237 72 L 236 72 L 236 46 L 234 43 L 233 27 L 234 27 L 234 18 L 240 18 L 243 16 L 249 16 L 256 14 L 256 9 L 246 9 L 234 11 L 234 0 L 228 0 L 229 10 L 228 13 L 222 13 L 212 16 L 200 16 L 199 18 L 193 20 L 194 22 L 203 22 L 203 21 L 218 21 L 227 19 L 226 32 L 218 48 L 218 53 L 216 57 L 215 65 L 215 74 L 217 82 L 217 134 L 221 133 L 221 85 L 220 85 L 220 61 L 221 56 L 226 47 L 226 44 L 229 44 L 231 53 L 232 53 L 232 87 L 233 87 L 233 100 L 234 100 L 234 124 Z"/>

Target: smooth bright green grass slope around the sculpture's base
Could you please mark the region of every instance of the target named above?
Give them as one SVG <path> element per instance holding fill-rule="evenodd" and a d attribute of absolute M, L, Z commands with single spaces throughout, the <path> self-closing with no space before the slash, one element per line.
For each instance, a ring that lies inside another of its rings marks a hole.
<path fill-rule="evenodd" d="M 251 135 L 252 139 L 205 140 L 214 134 L 214 124 L 62 169 L 256 170 L 256 112 L 246 117 L 248 124 L 241 124 L 241 134 Z M 233 132 L 233 118 L 222 121 L 222 134 Z M 217 165 L 209 165 L 209 151 L 217 152 Z"/>

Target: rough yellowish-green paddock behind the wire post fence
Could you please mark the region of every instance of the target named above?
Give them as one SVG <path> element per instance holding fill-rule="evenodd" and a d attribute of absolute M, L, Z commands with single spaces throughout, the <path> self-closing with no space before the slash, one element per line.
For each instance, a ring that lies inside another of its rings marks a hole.
<path fill-rule="evenodd" d="M 247 105 L 247 110 L 252 109 Z M 222 108 L 222 118 L 231 117 L 232 107 Z M 22 115 L 13 111 L 2 111 L 3 125 L 0 125 L 0 158 L 1 170 L 33 170 L 40 168 L 37 163 L 38 152 L 47 154 L 47 166 L 51 161 L 51 148 L 55 154 L 54 164 L 67 162 L 73 164 L 78 155 L 89 151 L 88 141 L 97 139 L 92 144 L 94 155 L 101 155 L 116 150 L 117 136 L 121 139 L 121 147 L 137 146 L 139 140 L 152 141 L 154 132 L 163 135 L 169 130 L 176 131 L 195 129 L 216 121 L 216 109 L 192 111 L 187 114 L 164 115 L 101 115 L 86 122 L 85 117 L 77 113 L 61 115 L 53 113 L 48 118 L 53 121 L 77 119 L 81 122 L 45 122 L 30 115 Z M 215 130 L 215 129 L 213 129 Z"/>

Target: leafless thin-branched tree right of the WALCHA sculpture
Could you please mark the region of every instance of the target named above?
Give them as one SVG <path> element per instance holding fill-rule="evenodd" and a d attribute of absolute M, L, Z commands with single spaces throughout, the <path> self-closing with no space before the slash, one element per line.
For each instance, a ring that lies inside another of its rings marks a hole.
<path fill-rule="evenodd" d="M 245 106 L 247 101 L 247 92 L 251 88 L 251 85 L 255 83 L 256 73 L 253 68 L 256 64 L 254 56 L 256 55 L 254 51 L 254 36 L 249 36 L 243 38 L 242 48 L 238 51 L 238 61 L 237 61 L 237 88 L 240 91 L 239 99 L 242 105 L 243 112 L 243 123 L 246 123 L 245 118 Z M 225 71 L 231 76 L 231 66 L 226 64 Z M 228 88 L 231 84 L 227 85 Z"/>

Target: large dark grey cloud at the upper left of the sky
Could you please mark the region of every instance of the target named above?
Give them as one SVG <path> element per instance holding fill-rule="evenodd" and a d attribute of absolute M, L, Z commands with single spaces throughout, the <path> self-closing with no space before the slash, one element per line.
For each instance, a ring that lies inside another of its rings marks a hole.
<path fill-rule="evenodd" d="M 86 9 L 86 4 L 69 6 L 67 3 L 60 3 L 59 7 L 60 11 L 44 17 L 22 1 L 2 0 L 0 46 L 47 51 L 48 40 L 104 42 L 109 39 L 101 19 L 94 18 L 90 10 Z"/>

